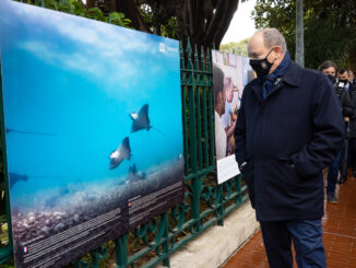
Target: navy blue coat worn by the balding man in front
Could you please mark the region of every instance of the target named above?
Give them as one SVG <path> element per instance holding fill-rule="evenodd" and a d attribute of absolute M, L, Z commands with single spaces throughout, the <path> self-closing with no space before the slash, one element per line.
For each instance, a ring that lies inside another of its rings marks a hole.
<path fill-rule="evenodd" d="M 263 101 L 256 79 L 244 90 L 235 128 L 241 166 L 258 221 L 323 215 L 323 176 L 344 139 L 335 90 L 319 72 L 290 62 Z"/>

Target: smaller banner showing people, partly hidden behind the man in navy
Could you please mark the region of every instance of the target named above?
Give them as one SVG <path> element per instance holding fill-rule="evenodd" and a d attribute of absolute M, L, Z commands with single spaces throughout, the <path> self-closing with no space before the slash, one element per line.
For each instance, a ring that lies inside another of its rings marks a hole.
<path fill-rule="evenodd" d="M 235 160 L 234 129 L 244 88 L 254 79 L 249 59 L 242 56 L 212 50 L 214 84 L 215 152 L 217 183 L 238 175 Z M 223 72 L 223 75 L 219 73 Z"/>

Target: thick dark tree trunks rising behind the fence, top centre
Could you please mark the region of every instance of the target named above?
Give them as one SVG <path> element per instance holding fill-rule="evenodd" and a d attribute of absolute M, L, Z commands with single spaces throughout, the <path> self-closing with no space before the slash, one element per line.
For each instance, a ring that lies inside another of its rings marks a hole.
<path fill-rule="evenodd" d="M 161 27 L 155 22 L 144 22 L 139 4 L 146 3 L 156 11 L 155 16 L 165 21 L 177 19 L 175 38 L 186 39 L 193 45 L 213 44 L 218 48 L 238 7 L 238 0 L 116 0 L 116 10 L 124 13 L 131 20 L 131 26 L 143 32 L 152 32 L 156 27 L 159 35 Z M 165 23 L 163 23 L 165 24 Z"/>

